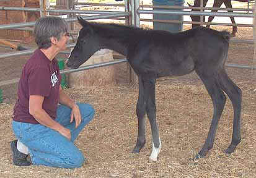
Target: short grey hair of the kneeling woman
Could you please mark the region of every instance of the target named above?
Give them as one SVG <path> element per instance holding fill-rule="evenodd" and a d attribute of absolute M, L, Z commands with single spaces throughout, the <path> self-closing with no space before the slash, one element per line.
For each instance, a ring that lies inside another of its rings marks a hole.
<path fill-rule="evenodd" d="M 68 32 L 68 23 L 61 17 L 41 17 L 35 22 L 33 35 L 39 49 L 47 49 L 51 44 L 51 37 L 60 40 L 62 34 Z"/>

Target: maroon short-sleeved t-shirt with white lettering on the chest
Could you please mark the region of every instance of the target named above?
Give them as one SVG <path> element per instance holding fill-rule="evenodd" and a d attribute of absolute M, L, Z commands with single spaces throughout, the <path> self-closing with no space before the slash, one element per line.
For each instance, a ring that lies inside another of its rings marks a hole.
<path fill-rule="evenodd" d="M 43 109 L 52 119 L 60 101 L 60 69 L 58 61 L 50 61 L 40 49 L 25 64 L 19 81 L 18 100 L 14 106 L 14 121 L 39 124 L 29 114 L 29 96 L 44 96 Z"/>

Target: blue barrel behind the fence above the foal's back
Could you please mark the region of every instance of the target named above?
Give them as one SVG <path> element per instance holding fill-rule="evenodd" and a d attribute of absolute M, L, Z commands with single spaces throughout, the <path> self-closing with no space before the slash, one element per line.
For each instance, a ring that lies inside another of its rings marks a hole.
<path fill-rule="evenodd" d="M 184 6 L 184 0 L 153 0 L 153 6 Z M 154 8 L 154 10 L 183 11 L 183 9 Z M 181 23 L 153 22 L 155 30 L 166 30 L 172 33 L 183 30 L 183 15 L 153 14 L 154 20 L 182 20 Z"/>

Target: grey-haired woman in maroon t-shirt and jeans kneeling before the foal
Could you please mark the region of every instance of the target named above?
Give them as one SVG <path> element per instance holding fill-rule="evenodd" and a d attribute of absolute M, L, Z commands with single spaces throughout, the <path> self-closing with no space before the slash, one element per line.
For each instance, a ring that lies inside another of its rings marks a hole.
<path fill-rule="evenodd" d="M 81 167 L 84 155 L 74 140 L 94 117 L 94 109 L 75 103 L 60 87 L 55 56 L 66 49 L 68 24 L 60 17 L 42 17 L 35 23 L 34 35 L 38 49 L 22 70 L 14 106 L 13 162 L 17 166 Z"/>

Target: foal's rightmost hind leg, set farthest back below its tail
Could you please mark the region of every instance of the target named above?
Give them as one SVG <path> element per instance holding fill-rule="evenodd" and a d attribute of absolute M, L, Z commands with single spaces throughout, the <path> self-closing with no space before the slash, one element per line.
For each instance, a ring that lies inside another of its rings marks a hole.
<path fill-rule="evenodd" d="M 231 145 L 225 150 L 225 153 L 232 153 L 236 149 L 238 143 L 241 142 L 241 108 L 242 108 L 242 90 L 237 87 L 237 85 L 232 82 L 232 80 L 227 76 L 226 71 L 223 69 L 219 74 L 219 82 L 221 88 L 225 91 L 227 96 L 229 96 L 233 108 L 234 108 L 234 121 L 233 121 L 233 133 Z"/>

